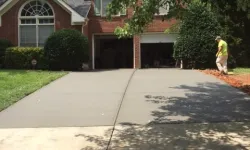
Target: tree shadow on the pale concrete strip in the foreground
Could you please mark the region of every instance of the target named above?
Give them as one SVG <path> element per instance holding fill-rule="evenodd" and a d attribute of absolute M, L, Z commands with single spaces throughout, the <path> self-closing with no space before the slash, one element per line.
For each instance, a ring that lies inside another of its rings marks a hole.
<path fill-rule="evenodd" d="M 250 123 L 117 125 L 112 139 L 78 135 L 96 146 L 81 150 L 248 150 Z M 111 129 L 107 132 L 111 132 Z"/>

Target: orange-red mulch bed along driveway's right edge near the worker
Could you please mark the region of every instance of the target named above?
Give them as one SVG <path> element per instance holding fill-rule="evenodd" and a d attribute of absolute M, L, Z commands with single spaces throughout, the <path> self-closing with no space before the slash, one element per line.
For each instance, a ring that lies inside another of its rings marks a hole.
<path fill-rule="evenodd" d="M 242 90 L 250 95 L 250 74 L 245 75 L 221 75 L 217 70 L 201 70 L 201 72 L 213 75 L 216 78 L 223 80 L 229 85 Z"/>

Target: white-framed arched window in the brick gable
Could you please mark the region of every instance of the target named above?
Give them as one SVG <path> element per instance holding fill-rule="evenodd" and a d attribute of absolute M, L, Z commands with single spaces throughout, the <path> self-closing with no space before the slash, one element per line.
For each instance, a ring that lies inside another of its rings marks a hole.
<path fill-rule="evenodd" d="M 54 13 L 44 0 L 28 1 L 19 13 L 19 45 L 42 47 L 54 32 Z"/>

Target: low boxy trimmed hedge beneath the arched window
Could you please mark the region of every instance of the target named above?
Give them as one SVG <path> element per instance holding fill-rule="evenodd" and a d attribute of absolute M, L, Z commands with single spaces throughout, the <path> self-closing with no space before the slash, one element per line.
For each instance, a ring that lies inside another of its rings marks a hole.
<path fill-rule="evenodd" d="M 10 47 L 5 53 L 4 65 L 9 69 L 31 69 L 31 61 L 37 60 L 36 69 L 46 69 L 44 51 L 38 47 Z"/>

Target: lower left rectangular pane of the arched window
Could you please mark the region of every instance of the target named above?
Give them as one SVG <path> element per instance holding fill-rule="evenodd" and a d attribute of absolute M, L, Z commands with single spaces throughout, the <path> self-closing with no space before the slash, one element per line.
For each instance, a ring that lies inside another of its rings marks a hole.
<path fill-rule="evenodd" d="M 20 26 L 20 46 L 36 46 L 36 26 Z"/>

